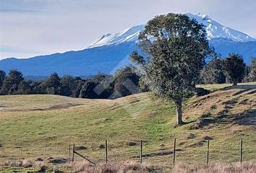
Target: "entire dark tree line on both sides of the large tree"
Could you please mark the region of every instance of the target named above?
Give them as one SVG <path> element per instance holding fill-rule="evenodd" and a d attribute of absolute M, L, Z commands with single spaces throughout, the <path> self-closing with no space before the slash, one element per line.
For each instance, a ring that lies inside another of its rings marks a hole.
<path fill-rule="evenodd" d="M 116 74 L 97 74 L 89 79 L 70 75 L 51 74 L 45 80 L 25 80 L 22 72 L 11 70 L 7 75 L 0 70 L 0 94 L 57 94 L 89 99 L 115 99 L 148 91 L 141 74 L 133 66 L 116 71 Z M 242 56 L 230 54 L 227 58 L 215 57 L 200 71 L 198 84 L 223 84 L 256 81 L 256 58 L 249 66 Z"/>

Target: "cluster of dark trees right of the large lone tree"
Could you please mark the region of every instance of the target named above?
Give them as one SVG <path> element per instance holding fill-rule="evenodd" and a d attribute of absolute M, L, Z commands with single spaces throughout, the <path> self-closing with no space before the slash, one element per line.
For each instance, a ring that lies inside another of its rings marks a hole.
<path fill-rule="evenodd" d="M 239 54 L 231 53 L 227 58 L 213 58 L 200 72 L 200 84 L 223 84 L 256 81 L 256 58 L 249 66 Z"/>

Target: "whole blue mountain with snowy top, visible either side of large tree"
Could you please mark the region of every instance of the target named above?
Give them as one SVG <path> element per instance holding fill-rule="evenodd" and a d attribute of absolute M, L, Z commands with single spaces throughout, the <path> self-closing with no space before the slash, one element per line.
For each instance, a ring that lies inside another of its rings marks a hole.
<path fill-rule="evenodd" d="M 256 57 L 256 40 L 242 32 L 225 27 L 204 14 L 187 14 L 205 25 L 210 45 L 223 57 L 239 53 L 249 63 Z M 98 72 L 114 73 L 117 68 L 129 64 L 129 55 L 137 48 L 137 38 L 145 25 L 130 27 L 115 34 L 99 37 L 85 50 L 55 53 L 27 59 L 7 58 L 0 61 L 0 69 L 19 69 L 26 76 L 47 76 L 54 71 L 60 75 L 93 75 Z"/>

